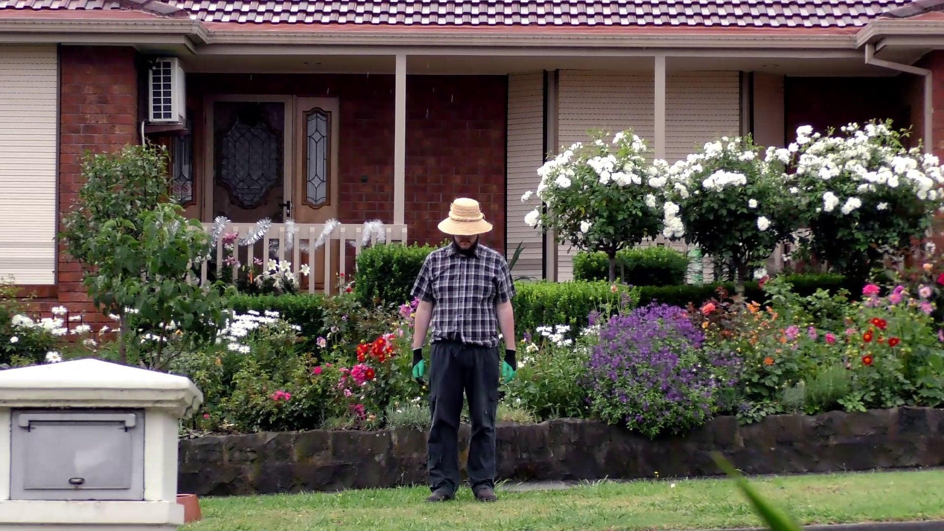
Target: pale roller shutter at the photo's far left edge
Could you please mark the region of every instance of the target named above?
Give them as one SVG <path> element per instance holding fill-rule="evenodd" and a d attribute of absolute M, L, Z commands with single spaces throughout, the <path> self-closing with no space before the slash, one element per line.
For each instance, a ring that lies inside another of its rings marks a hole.
<path fill-rule="evenodd" d="M 0 280 L 56 283 L 56 46 L 0 45 Z"/>

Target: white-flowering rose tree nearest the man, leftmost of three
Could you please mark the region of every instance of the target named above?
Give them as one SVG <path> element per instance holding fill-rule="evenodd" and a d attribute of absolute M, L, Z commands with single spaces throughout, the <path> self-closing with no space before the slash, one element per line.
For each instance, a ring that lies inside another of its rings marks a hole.
<path fill-rule="evenodd" d="M 565 149 L 538 169 L 536 196 L 547 209 L 525 216 L 531 227 L 554 231 L 557 243 L 582 250 L 601 250 L 610 259 L 609 280 L 616 278 L 616 251 L 632 247 L 662 229 L 662 187 L 666 178 L 652 176 L 646 143 L 632 130 L 604 142 Z M 527 192 L 522 201 L 531 198 Z"/>

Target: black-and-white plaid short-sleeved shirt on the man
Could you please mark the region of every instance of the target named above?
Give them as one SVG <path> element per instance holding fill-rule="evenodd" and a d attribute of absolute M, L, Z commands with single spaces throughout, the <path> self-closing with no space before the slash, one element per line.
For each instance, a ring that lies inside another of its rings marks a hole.
<path fill-rule="evenodd" d="M 505 257 L 481 244 L 472 256 L 452 245 L 430 253 L 413 284 L 413 297 L 432 302 L 432 340 L 498 346 L 496 304 L 514 297 Z"/>

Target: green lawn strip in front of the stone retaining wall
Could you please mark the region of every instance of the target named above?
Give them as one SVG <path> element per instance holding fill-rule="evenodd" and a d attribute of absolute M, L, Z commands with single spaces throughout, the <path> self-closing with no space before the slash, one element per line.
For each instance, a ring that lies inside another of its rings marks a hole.
<path fill-rule="evenodd" d="M 751 479 L 801 524 L 944 519 L 944 471 L 772 476 Z M 205 498 L 185 531 L 314 529 L 656 530 L 759 526 L 727 479 L 597 482 L 564 490 L 497 489 L 497 504 L 425 504 L 428 488 Z"/>

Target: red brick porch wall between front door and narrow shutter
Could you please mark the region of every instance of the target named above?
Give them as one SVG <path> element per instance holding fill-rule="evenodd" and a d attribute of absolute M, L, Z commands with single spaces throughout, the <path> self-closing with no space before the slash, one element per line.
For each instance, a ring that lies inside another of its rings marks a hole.
<path fill-rule="evenodd" d="M 210 75 L 187 78 L 192 111 L 204 94 L 338 97 L 339 220 L 393 223 L 394 78 L 376 75 Z M 407 78 L 405 221 L 411 242 L 436 244 L 453 197 L 477 198 L 504 248 L 506 78 Z M 195 104 L 195 105 L 194 105 Z M 365 180 L 365 182 L 364 182 Z"/>

